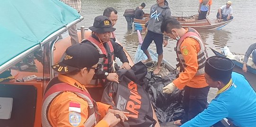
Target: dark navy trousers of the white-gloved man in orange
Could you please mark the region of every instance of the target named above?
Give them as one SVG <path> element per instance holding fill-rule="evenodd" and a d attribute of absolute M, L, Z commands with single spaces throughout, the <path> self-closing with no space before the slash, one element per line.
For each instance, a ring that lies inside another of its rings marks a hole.
<path fill-rule="evenodd" d="M 209 86 L 203 88 L 184 87 L 185 92 L 182 107 L 185 110 L 185 113 L 181 120 L 182 124 L 193 119 L 197 114 L 207 108 L 207 95 L 209 89 Z"/>

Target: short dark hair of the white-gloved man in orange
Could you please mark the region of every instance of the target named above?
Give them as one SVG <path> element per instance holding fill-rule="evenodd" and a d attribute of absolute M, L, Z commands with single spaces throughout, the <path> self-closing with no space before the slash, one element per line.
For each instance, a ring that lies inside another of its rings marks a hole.
<path fill-rule="evenodd" d="M 182 28 L 181 24 L 178 22 L 177 19 L 168 18 L 163 20 L 161 24 L 161 32 L 172 33 L 173 28 L 176 28 L 176 29 Z"/>

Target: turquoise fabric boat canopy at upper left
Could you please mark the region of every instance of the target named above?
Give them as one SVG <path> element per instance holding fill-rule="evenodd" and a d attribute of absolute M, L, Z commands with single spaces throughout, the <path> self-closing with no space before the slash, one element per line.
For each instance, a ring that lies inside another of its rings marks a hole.
<path fill-rule="evenodd" d="M 60 0 L 2 0 L 0 8 L 0 73 L 9 61 L 40 48 L 53 33 L 58 36 L 83 19 Z"/>

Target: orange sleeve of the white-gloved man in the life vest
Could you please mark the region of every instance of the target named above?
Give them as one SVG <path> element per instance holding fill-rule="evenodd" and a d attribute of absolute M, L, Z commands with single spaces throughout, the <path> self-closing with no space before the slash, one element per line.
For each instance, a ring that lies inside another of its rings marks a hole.
<path fill-rule="evenodd" d="M 192 38 L 185 38 L 180 46 L 180 50 L 184 56 L 186 67 L 185 71 L 181 72 L 179 77 L 173 80 L 173 83 L 179 89 L 183 89 L 197 72 L 197 53 L 200 51 L 200 45 Z"/>

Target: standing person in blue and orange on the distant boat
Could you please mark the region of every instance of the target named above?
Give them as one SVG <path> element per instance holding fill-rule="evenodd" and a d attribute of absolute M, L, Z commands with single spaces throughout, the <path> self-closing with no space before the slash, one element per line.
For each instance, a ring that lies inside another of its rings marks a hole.
<path fill-rule="evenodd" d="M 212 0 L 199 0 L 199 16 L 198 20 L 206 19 L 206 15 L 210 14 Z"/>

